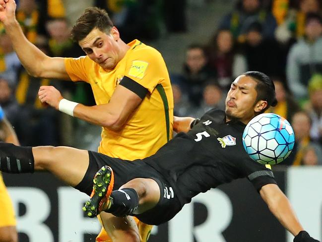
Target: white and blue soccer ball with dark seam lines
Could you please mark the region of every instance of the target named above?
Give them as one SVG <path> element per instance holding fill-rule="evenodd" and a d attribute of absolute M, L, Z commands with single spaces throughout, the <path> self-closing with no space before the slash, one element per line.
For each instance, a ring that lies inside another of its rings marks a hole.
<path fill-rule="evenodd" d="M 277 164 L 290 155 L 294 139 L 292 126 L 285 118 L 274 113 L 262 113 L 246 125 L 243 146 L 254 161 Z"/>

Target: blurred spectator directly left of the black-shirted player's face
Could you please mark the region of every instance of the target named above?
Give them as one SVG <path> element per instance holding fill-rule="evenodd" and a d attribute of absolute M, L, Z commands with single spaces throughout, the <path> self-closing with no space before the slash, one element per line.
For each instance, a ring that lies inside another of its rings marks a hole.
<path fill-rule="evenodd" d="M 212 108 L 220 110 L 225 109 L 225 98 L 222 88 L 218 85 L 217 81 L 208 81 L 202 92 L 202 101 L 200 106 L 196 109 L 195 117 L 201 117 L 205 112 Z"/>

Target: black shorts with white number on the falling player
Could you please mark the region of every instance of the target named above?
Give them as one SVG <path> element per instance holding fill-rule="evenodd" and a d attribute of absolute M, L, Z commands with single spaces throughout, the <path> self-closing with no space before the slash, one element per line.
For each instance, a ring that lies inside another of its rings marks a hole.
<path fill-rule="evenodd" d="M 160 187 L 160 200 L 158 204 L 142 213 L 135 214 L 141 222 L 150 225 L 160 225 L 172 219 L 182 208 L 176 188 L 172 187 L 167 179 L 144 160 L 125 161 L 118 158 L 88 151 L 89 165 L 82 181 L 75 187 L 81 192 L 91 194 L 95 173 L 104 165 L 108 165 L 114 172 L 113 190 L 119 189 L 123 184 L 134 178 L 151 178 Z"/>

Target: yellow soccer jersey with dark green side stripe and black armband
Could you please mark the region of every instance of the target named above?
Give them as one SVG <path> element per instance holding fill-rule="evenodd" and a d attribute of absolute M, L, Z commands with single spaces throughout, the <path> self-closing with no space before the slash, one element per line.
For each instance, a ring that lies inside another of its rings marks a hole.
<path fill-rule="evenodd" d="M 109 102 L 125 76 L 148 90 L 121 131 L 103 128 L 101 134 L 98 152 L 132 161 L 153 155 L 172 137 L 173 95 L 161 54 L 138 40 L 128 45 L 125 57 L 111 71 L 87 56 L 66 58 L 64 63 L 72 81 L 90 83 L 97 105 Z"/>

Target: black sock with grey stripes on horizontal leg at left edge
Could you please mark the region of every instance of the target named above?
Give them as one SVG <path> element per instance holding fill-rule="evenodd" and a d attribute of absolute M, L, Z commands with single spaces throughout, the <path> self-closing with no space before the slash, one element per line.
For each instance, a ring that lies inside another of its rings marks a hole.
<path fill-rule="evenodd" d="M 0 142 L 0 170 L 7 173 L 33 173 L 34 156 L 31 147 Z"/>

